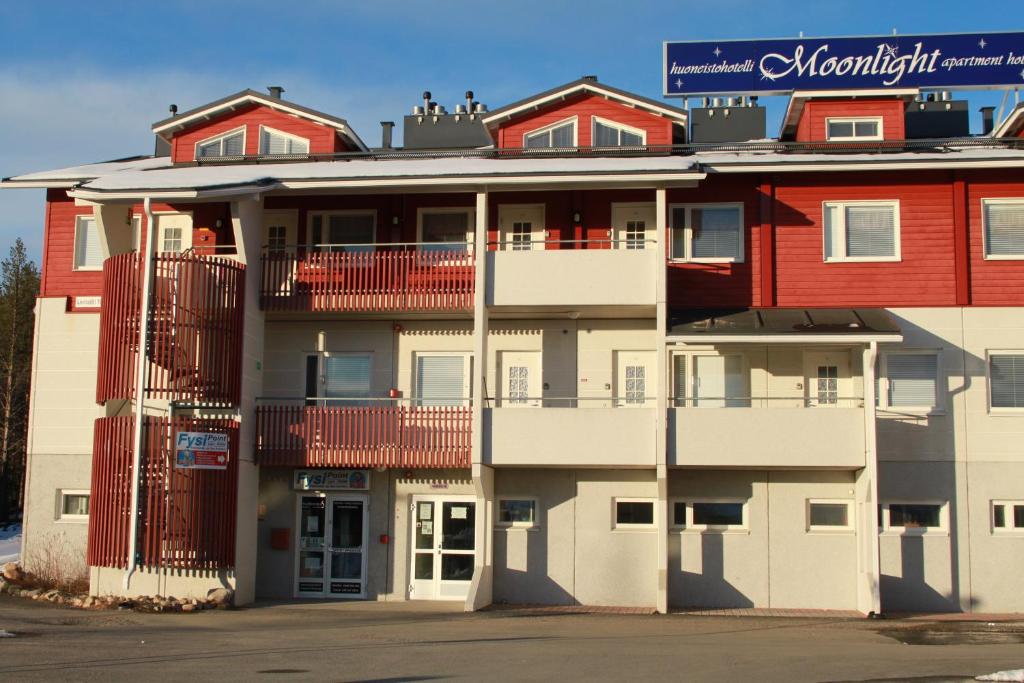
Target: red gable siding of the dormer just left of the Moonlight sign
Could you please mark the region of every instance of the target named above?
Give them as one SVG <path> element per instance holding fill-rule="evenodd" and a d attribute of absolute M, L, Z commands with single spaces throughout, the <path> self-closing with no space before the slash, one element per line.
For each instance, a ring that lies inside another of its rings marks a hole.
<path fill-rule="evenodd" d="M 521 147 L 523 134 L 573 116 L 579 117 L 577 143 L 582 147 L 591 146 L 591 124 L 592 117 L 595 116 L 647 131 L 647 144 L 672 144 L 671 119 L 598 95 L 585 94 L 551 104 L 539 112 L 517 116 L 502 124 L 498 129 L 498 146 Z"/>

